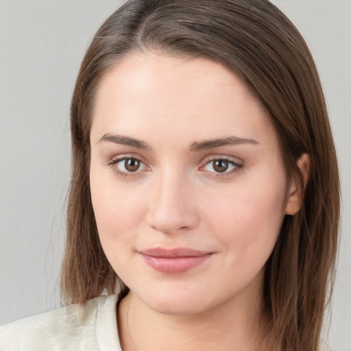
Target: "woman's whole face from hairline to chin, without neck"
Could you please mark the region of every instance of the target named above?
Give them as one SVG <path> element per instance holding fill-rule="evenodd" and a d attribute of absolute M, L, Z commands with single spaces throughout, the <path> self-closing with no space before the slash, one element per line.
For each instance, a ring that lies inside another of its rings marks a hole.
<path fill-rule="evenodd" d="M 172 314 L 252 303 L 292 205 L 241 80 L 204 58 L 129 56 L 101 80 L 90 141 L 101 244 L 132 293 Z"/>

